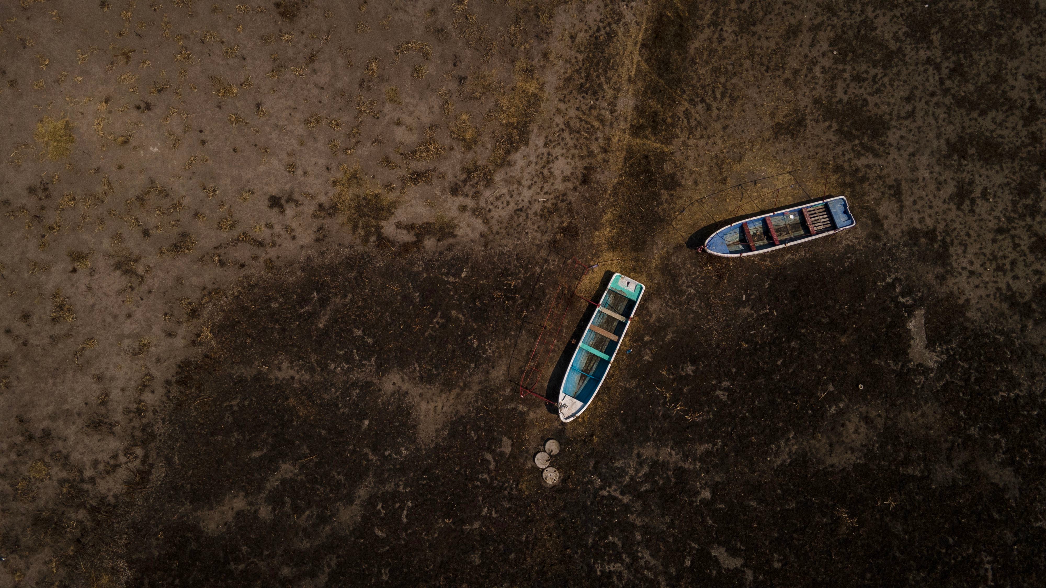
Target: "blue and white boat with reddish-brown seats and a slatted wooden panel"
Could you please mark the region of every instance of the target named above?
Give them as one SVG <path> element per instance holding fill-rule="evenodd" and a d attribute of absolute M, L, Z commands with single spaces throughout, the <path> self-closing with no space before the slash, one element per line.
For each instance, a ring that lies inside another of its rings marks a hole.
<path fill-rule="evenodd" d="M 793 206 L 745 219 L 720 229 L 705 241 L 712 255 L 755 255 L 805 243 L 857 225 L 846 197 L 828 197 L 813 204 Z"/>

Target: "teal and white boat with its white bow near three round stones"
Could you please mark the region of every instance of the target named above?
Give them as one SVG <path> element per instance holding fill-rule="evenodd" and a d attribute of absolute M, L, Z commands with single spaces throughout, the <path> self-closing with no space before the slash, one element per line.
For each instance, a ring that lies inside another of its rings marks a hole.
<path fill-rule="evenodd" d="M 560 419 L 564 423 L 585 412 L 599 391 L 644 290 L 642 284 L 619 273 L 610 278 L 560 386 Z"/>

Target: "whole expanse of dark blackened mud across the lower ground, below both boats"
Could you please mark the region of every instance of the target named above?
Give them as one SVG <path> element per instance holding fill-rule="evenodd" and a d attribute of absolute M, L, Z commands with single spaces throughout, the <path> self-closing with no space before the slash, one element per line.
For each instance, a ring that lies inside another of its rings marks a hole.
<path fill-rule="evenodd" d="M 760 265 L 680 246 L 550 491 L 483 350 L 524 264 L 368 253 L 241 288 L 168 385 L 129 563 L 228 586 L 1032 582 L 1041 353 L 840 241 Z"/>

